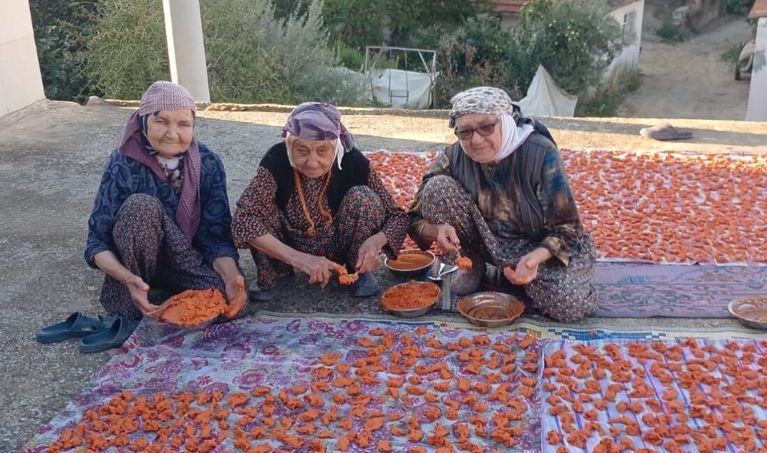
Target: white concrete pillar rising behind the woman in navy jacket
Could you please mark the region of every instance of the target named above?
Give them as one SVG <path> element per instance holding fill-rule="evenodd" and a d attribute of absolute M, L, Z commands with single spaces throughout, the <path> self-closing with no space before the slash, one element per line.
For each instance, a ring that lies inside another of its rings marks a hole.
<path fill-rule="evenodd" d="M 199 0 L 163 0 L 170 78 L 194 100 L 210 102 Z"/>

